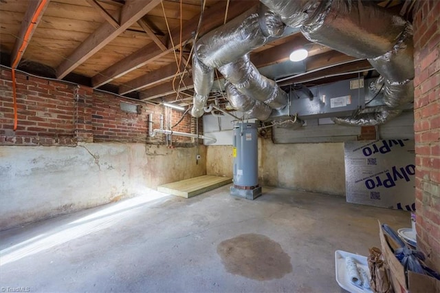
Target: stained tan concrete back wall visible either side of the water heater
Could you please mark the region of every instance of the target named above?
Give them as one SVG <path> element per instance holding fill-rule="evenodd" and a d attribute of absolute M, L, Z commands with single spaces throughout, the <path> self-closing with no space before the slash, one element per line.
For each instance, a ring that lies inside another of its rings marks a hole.
<path fill-rule="evenodd" d="M 207 146 L 206 171 L 232 176 L 232 146 Z M 344 144 L 274 144 L 259 139 L 263 186 L 345 195 Z"/>

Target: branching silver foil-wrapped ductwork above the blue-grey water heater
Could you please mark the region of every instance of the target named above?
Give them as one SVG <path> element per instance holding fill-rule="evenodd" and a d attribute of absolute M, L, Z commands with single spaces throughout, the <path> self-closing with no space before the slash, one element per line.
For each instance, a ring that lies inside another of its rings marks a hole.
<path fill-rule="evenodd" d="M 246 55 L 267 43 L 270 37 L 281 36 L 284 28 L 281 17 L 261 5 L 201 37 L 195 44 L 195 54 L 192 56 L 192 79 L 195 85 L 192 116 L 203 115 L 203 106 L 214 80 L 213 70 L 219 67 L 225 80 L 230 81 L 236 90 L 247 96 L 245 104 L 252 105 L 252 108 L 246 108 L 248 110 L 245 112 L 251 117 L 264 120 L 269 117 L 270 113 L 267 113 L 272 109 L 265 107 L 262 102 L 274 109 L 285 107 L 287 94 L 274 80 L 261 76 Z M 230 100 L 238 99 L 236 91 L 228 96 L 233 97 Z M 231 102 L 231 105 L 233 104 Z"/>

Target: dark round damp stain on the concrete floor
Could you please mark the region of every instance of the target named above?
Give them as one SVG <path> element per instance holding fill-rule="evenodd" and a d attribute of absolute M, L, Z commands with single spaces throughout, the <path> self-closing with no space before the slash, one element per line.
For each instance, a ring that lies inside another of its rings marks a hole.
<path fill-rule="evenodd" d="M 281 245 L 260 234 L 243 234 L 226 239 L 217 246 L 225 269 L 249 279 L 281 279 L 292 272 L 289 254 Z"/>

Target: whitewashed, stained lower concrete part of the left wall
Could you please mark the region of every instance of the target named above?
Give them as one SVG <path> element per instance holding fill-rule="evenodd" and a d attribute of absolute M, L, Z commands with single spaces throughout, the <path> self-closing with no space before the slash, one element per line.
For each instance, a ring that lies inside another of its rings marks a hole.
<path fill-rule="evenodd" d="M 206 148 L 151 144 L 0 146 L 0 230 L 206 174 Z"/>

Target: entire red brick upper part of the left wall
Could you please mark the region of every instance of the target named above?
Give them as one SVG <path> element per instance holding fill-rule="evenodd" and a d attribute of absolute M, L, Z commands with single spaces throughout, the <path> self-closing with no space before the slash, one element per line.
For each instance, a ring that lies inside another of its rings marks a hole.
<path fill-rule="evenodd" d="M 18 128 L 13 131 L 11 72 L 1 69 L 0 145 L 76 145 L 77 142 L 146 142 L 164 144 L 165 135 L 148 135 L 148 114 L 159 128 L 162 106 L 129 100 L 85 86 L 16 74 Z M 139 105 L 139 113 L 120 109 L 120 103 Z M 183 112 L 171 111 L 175 124 Z M 191 132 L 187 114 L 175 131 Z M 173 135 L 175 146 L 190 146 L 191 138 Z"/>

